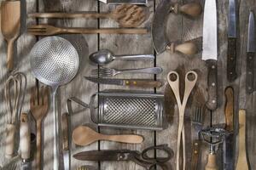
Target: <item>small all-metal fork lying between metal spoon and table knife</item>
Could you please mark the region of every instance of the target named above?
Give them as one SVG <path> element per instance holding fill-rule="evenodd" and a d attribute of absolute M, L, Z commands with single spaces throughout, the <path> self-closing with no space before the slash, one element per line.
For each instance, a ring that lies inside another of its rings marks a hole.
<path fill-rule="evenodd" d="M 118 70 L 118 69 L 112 69 L 112 68 L 105 68 L 100 67 L 100 69 L 95 69 L 90 72 L 92 77 L 113 77 L 117 74 L 121 73 L 147 73 L 147 74 L 160 74 L 162 72 L 162 68 L 160 67 L 151 67 L 151 68 L 141 68 L 141 69 L 124 69 L 124 70 Z"/>

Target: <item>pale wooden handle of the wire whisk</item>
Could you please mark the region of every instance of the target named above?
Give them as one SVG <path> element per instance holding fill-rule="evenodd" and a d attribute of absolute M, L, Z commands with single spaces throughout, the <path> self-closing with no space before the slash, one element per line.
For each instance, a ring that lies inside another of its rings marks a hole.
<path fill-rule="evenodd" d="M 12 158 L 15 152 L 15 125 L 7 124 L 5 140 L 5 157 Z"/>

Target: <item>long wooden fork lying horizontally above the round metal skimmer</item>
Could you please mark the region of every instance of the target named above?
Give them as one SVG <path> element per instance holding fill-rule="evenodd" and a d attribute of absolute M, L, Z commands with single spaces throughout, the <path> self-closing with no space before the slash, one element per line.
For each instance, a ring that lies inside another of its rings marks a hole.
<path fill-rule="evenodd" d="M 34 36 L 53 36 L 56 34 L 147 34 L 144 28 L 64 28 L 49 25 L 28 26 L 27 32 Z"/>

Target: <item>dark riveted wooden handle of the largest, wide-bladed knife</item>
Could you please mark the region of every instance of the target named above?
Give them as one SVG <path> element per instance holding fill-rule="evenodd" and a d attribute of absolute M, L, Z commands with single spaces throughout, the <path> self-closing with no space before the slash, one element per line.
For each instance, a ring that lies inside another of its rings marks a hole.
<path fill-rule="evenodd" d="M 207 67 L 208 67 L 207 108 L 211 111 L 214 111 L 217 109 L 217 106 L 218 106 L 217 61 L 213 59 L 208 59 Z"/>

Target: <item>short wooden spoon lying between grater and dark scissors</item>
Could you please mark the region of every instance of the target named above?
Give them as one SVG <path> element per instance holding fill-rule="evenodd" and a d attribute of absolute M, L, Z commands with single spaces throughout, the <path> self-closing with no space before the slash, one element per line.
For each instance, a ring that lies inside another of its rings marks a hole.
<path fill-rule="evenodd" d="M 90 127 L 79 126 L 73 130 L 73 142 L 79 145 L 87 145 L 97 140 L 109 140 L 129 144 L 139 144 L 143 142 L 143 137 L 137 134 L 105 135 L 96 133 Z"/>

